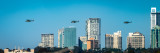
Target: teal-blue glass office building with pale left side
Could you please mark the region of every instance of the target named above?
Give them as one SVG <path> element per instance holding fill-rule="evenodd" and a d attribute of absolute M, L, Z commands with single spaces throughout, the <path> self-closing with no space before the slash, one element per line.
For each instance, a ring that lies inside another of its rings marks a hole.
<path fill-rule="evenodd" d="M 58 30 L 58 47 L 68 47 L 70 49 L 76 46 L 76 28 L 67 27 Z"/>

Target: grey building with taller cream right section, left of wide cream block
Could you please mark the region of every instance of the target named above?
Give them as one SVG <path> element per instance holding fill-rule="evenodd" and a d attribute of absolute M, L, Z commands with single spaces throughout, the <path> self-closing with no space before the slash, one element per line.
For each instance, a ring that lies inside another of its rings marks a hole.
<path fill-rule="evenodd" d="M 106 36 L 105 36 L 105 47 L 106 48 L 122 49 L 121 31 L 117 31 L 113 35 L 106 34 Z"/>

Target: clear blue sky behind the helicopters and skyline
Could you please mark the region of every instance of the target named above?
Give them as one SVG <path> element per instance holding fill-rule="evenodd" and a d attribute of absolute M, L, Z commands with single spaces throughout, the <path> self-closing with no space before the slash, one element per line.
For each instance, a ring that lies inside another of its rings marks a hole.
<path fill-rule="evenodd" d="M 58 45 L 58 29 L 75 26 L 77 38 L 85 36 L 85 21 L 101 18 L 101 44 L 105 34 L 122 31 L 122 48 L 126 49 L 129 32 L 141 32 L 145 47 L 150 46 L 150 9 L 159 0 L 0 0 L 0 48 L 34 48 L 41 42 L 42 33 L 54 33 Z M 35 22 L 26 23 L 26 19 Z M 72 20 L 79 23 L 71 24 Z M 124 21 L 132 21 L 124 24 Z M 78 42 L 77 42 L 78 43 Z"/>

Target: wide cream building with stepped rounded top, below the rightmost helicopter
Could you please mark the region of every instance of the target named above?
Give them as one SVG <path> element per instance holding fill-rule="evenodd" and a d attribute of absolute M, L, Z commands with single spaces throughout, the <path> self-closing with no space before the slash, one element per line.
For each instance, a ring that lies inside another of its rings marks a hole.
<path fill-rule="evenodd" d="M 145 48 L 145 37 L 140 32 L 129 33 L 127 37 L 127 48 Z"/>

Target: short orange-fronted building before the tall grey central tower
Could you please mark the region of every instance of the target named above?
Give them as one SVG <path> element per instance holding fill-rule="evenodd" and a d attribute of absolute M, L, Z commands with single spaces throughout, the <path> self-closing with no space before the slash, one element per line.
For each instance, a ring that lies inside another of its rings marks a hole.
<path fill-rule="evenodd" d="M 87 50 L 89 49 L 97 49 L 99 48 L 99 44 L 98 44 L 99 40 L 95 40 L 94 38 L 90 38 L 89 40 L 87 40 Z"/>

